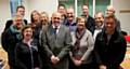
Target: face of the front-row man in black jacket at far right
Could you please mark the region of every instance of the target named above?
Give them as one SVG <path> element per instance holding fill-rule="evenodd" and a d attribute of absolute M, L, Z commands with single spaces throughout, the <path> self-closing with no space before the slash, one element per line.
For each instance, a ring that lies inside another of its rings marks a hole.
<path fill-rule="evenodd" d="M 105 28 L 106 28 L 107 32 L 114 31 L 115 27 L 116 27 L 115 19 L 113 19 L 113 18 L 105 19 Z"/>

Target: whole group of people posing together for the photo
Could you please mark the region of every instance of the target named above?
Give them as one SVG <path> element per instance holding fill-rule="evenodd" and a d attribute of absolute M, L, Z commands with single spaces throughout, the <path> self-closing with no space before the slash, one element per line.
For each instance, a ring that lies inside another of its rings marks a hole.
<path fill-rule="evenodd" d="M 27 23 L 25 8 L 17 6 L 1 34 L 10 69 L 120 69 L 127 42 L 114 14 L 108 5 L 106 16 L 99 12 L 92 18 L 83 4 L 75 17 L 73 6 L 58 4 L 51 20 L 35 10 Z"/>

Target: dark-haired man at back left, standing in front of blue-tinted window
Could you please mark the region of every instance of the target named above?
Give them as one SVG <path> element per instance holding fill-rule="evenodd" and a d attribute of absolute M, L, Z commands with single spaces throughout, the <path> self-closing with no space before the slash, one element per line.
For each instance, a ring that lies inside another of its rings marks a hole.
<path fill-rule="evenodd" d="M 24 16 L 25 16 L 25 8 L 24 8 L 23 5 L 18 5 L 18 6 L 16 8 L 16 14 L 20 14 L 20 15 L 22 15 L 22 16 L 24 17 Z M 11 26 L 12 24 L 13 24 L 13 20 L 12 20 L 12 19 L 6 20 L 4 30 L 8 29 L 8 28 L 10 28 L 10 26 Z M 24 23 L 23 23 L 23 24 L 24 24 L 24 25 L 27 25 L 27 20 L 24 19 Z"/>

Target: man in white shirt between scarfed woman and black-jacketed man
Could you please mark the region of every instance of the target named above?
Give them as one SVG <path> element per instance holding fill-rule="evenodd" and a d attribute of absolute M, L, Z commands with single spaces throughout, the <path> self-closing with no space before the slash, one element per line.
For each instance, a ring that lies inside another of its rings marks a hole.
<path fill-rule="evenodd" d="M 94 19 L 95 19 L 95 28 L 94 28 L 93 39 L 95 40 L 98 33 L 101 32 L 102 29 L 104 28 L 103 13 L 102 12 L 96 13 Z"/>

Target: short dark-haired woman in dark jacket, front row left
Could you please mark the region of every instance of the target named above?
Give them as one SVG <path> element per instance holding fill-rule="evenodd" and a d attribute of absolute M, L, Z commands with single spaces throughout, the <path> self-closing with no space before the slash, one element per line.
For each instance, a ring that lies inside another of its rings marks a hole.
<path fill-rule="evenodd" d="M 16 44 L 15 60 L 17 69 L 40 69 L 38 42 L 32 38 L 32 29 L 22 29 L 23 40 Z"/>

